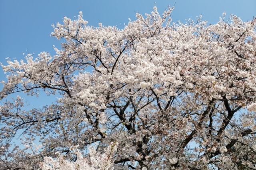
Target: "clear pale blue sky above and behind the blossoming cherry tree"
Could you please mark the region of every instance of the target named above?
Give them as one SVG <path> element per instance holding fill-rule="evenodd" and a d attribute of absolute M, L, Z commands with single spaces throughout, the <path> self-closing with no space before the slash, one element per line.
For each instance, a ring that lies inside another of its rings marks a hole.
<path fill-rule="evenodd" d="M 54 55 L 52 45 L 60 47 L 60 41 L 50 37 L 51 24 L 62 22 L 64 16 L 73 18 L 83 12 L 89 25 L 117 25 L 123 28 L 128 18 L 135 19 L 135 13 L 149 13 L 154 4 L 162 13 L 168 5 L 175 4 L 172 13 L 174 22 L 192 18 L 200 14 L 210 24 L 218 22 L 225 11 L 243 21 L 256 16 L 256 0 L 0 0 L 0 62 L 6 64 L 6 57 L 23 59 L 22 53 L 49 51 Z M 0 80 L 6 80 L 0 69 Z M 2 89 L 2 85 L 0 85 Z M 40 94 L 39 98 L 20 95 L 30 103 L 30 107 L 50 104 L 55 97 Z M 2 102 L 1 102 L 2 103 Z"/>

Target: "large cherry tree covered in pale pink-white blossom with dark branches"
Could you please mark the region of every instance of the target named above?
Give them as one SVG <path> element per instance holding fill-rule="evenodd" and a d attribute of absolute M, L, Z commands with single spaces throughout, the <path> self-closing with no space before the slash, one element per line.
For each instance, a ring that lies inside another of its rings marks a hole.
<path fill-rule="evenodd" d="M 1 168 L 256 169 L 256 19 L 171 24 L 172 10 L 122 30 L 64 17 L 56 55 L 2 65 L 1 98 L 61 97 L 0 106 Z"/>

